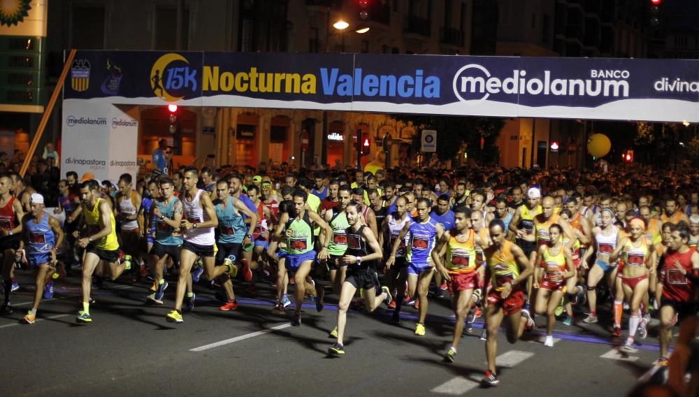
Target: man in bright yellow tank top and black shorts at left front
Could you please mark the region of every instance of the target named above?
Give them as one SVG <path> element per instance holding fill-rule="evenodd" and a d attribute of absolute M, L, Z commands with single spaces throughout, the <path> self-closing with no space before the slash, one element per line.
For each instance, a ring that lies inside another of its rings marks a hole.
<path fill-rule="evenodd" d="M 85 257 L 82 259 L 82 310 L 78 312 L 76 319 L 79 323 L 92 322 L 89 315 L 89 293 L 94 269 L 100 263 L 106 264 L 112 280 L 116 280 L 127 270 L 127 266 L 119 262 L 114 213 L 99 195 L 96 180 L 86 180 L 80 184 L 82 217 L 78 230 L 73 233 L 75 238 L 79 238 L 78 245 L 85 248 Z M 101 272 L 106 273 L 107 271 Z"/>

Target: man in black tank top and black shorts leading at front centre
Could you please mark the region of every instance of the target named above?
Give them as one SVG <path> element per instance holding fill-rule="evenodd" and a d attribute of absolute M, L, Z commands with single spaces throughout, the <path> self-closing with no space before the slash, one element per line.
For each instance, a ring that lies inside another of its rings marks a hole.
<path fill-rule="evenodd" d="M 360 208 L 361 204 L 355 201 L 350 202 L 345 207 L 349 227 L 345 230 L 347 250 L 341 261 L 344 266 L 347 266 L 347 277 L 340 290 L 340 302 L 338 303 L 338 325 L 336 327 L 338 339 L 328 349 L 328 353 L 333 356 L 345 355 L 343 342 L 347 308 L 349 308 L 349 303 L 357 289 L 364 289 L 364 307 L 368 312 L 376 310 L 382 301 L 387 305 L 391 303 L 391 290 L 388 287 L 380 287 L 376 273 L 375 261 L 383 256 L 381 246 L 368 227 L 361 224 L 359 220 L 361 218 Z M 369 254 L 370 251 L 371 254 Z M 378 291 L 382 291 L 382 293 L 377 296 Z"/>

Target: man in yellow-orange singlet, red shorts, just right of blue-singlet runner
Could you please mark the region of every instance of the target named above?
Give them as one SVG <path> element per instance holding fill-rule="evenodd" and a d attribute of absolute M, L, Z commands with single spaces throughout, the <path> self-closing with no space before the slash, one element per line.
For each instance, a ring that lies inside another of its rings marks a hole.
<path fill-rule="evenodd" d="M 454 229 L 445 231 L 431 252 L 432 261 L 447 281 L 447 289 L 452 296 L 452 308 L 456 316 L 452 347 L 445 354 L 445 360 L 456 359 L 456 347 L 463 333 L 463 321 L 471 308 L 473 290 L 478 284 L 475 262 L 476 246 L 484 243 L 477 233 L 470 229 L 471 211 L 465 205 L 454 208 Z"/>

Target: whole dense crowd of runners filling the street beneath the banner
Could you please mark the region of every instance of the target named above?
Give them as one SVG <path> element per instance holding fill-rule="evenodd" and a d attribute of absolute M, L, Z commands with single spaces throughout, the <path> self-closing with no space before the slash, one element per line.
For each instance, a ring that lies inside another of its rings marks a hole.
<path fill-rule="evenodd" d="M 430 299 L 450 296 L 456 322 L 445 360 L 456 359 L 461 335 L 483 316 L 483 382 L 494 386 L 500 326 L 514 343 L 545 324 L 553 347 L 556 322 L 596 323 L 598 306 L 610 302 L 610 333 L 622 352 L 635 352 L 651 317 L 659 320 L 663 366 L 672 326 L 698 310 L 698 176 L 224 167 L 137 181 L 124 174 L 113 186 L 70 172 L 58 184 L 59 208 L 47 211 L 18 174 L 0 175 L 0 312 L 13 311 L 20 269 L 36 273 L 28 324 L 66 273 L 82 277 L 84 324 L 93 321 L 91 291 L 105 280 L 147 282 L 147 303 L 168 306 L 173 323 L 194 310 L 193 284 L 214 287 L 227 311 L 238 308 L 234 285 L 255 295 L 256 284 L 268 282 L 273 312 L 291 306 L 294 326 L 305 299 L 322 311 L 332 294 L 338 315 L 329 354 L 343 356 L 349 308 L 385 305 L 400 324 L 403 307 L 414 306 L 415 335 L 426 335 Z"/>

